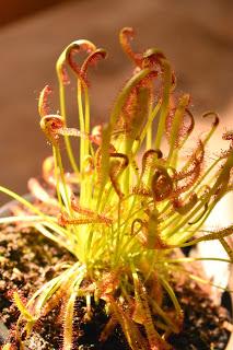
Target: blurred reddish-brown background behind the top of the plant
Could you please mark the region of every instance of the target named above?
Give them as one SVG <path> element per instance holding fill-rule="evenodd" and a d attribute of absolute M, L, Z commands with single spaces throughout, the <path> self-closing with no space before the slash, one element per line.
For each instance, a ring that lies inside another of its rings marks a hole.
<path fill-rule="evenodd" d="M 71 40 L 89 38 L 108 50 L 94 70 L 92 118 L 107 117 L 131 71 L 118 45 L 123 26 L 137 31 L 135 47 L 158 46 L 175 68 L 178 91 L 193 95 L 197 115 L 214 109 L 233 127 L 233 1 L 50 0 L 5 1 L 0 11 L 0 184 L 24 194 L 50 153 L 38 126 L 37 97 Z M 54 105 L 54 112 L 59 107 Z M 222 127 L 221 131 L 224 130 Z M 0 195 L 0 201 L 9 198 Z"/>

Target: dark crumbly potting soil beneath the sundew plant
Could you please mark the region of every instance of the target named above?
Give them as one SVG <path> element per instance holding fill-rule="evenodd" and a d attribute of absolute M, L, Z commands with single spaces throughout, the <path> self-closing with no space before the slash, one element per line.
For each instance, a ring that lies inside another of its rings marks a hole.
<path fill-rule="evenodd" d="M 22 229 L 18 232 L 13 226 L 0 231 L 0 322 L 13 329 L 19 317 L 19 311 L 12 302 L 12 292 L 21 291 L 27 298 L 43 283 L 59 273 L 58 262 L 74 260 L 66 249 L 43 237 L 33 230 Z M 184 326 L 178 335 L 172 335 L 170 342 L 174 350 L 222 350 L 229 331 L 223 327 L 229 320 L 228 313 L 222 307 L 213 306 L 203 292 L 194 283 L 176 288 L 184 310 Z M 100 343 L 98 337 L 107 322 L 104 313 L 104 302 L 93 308 L 91 322 L 80 322 L 84 315 L 84 301 L 75 303 L 74 343 L 75 350 L 129 350 L 125 336 L 119 327 L 105 343 Z M 79 334 L 79 339 L 75 335 Z M 10 332 L 12 338 L 13 331 Z M 0 327 L 1 336 L 1 327 Z M 0 345 L 3 341 L 0 337 Z M 58 350 L 62 345 L 62 327 L 59 318 L 59 307 L 40 318 L 36 331 L 27 341 L 28 350 Z M 15 346 L 15 349 L 19 349 Z"/>

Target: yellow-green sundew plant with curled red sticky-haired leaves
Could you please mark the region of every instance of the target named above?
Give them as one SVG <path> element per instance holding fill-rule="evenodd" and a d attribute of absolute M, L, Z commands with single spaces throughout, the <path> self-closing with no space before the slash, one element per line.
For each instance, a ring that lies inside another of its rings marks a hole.
<path fill-rule="evenodd" d="M 72 349 L 78 298 L 85 300 L 85 319 L 100 300 L 105 302 L 108 322 L 100 341 L 118 325 L 133 350 L 170 349 L 167 338 L 180 330 L 184 318 L 173 289 L 175 279 L 180 273 L 201 281 L 186 269 L 195 259 L 184 257 L 180 248 L 219 240 L 229 261 L 233 259 L 226 240 L 232 226 L 201 230 L 215 203 L 233 188 L 233 133 L 223 135 L 230 142 L 228 150 L 207 160 L 206 147 L 219 125 L 218 115 L 209 112 L 203 115 L 210 120 L 209 131 L 187 147 L 195 128 L 190 96 L 175 92 L 175 73 L 164 54 L 156 48 L 135 52 L 132 36 L 130 27 L 119 34 L 123 50 L 135 65 L 132 75 L 106 124 L 93 129 L 88 72 L 106 58 L 106 51 L 85 39 L 62 51 L 56 66 L 59 113 L 50 112 L 48 85 L 38 102 L 40 127 L 53 148 L 53 158 L 43 164 L 46 186 L 30 180 L 35 203 L 1 187 L 23 205 L 16 217 L 1 222 L 34 226 L 77 258 L 26 304 L 14 292 L 22 349 L 21 335 L 28 336 L 60 302 L 62 349 Z M 86 54 L 82 63 L 77 60 L 80 51 Z M 73 128 L 66 113 L 71 74 L 77 79 L 79 116 Z M 77 141 L 79 156 L 73 152 Z M 72 168 L 69 173 L 62 165 L 65 155 Z M 173 312 L 164 307 L 167 300 Z"/>

